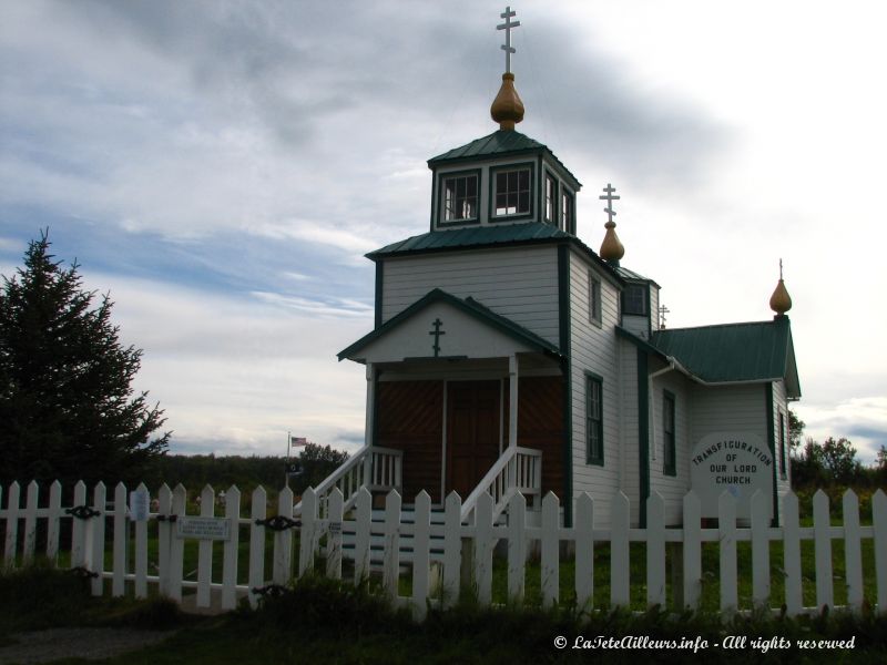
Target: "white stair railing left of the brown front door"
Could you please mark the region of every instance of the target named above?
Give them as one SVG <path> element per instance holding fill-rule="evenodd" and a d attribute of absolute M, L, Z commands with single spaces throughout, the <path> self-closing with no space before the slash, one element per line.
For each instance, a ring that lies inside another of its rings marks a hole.
<path fill-rule="evenodd" d="M 314 492 L 322 514 L 326 513 L 329 493 L 338 488 L 345 498 L 344 510 L 350 510 L 360 488 L 370 492 L 401 491 L 404 474 L 404 451 L 381 446 L 366 446 L 349 457 L 333 473 L 320 482 Z M 302 514 L 302 501 L 293 508 L 294 514 Z"/>

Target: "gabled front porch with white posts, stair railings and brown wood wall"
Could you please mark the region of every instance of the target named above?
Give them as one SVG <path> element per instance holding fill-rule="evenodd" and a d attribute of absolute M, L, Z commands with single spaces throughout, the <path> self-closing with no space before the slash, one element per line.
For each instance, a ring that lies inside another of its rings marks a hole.
<path fill-rule="evenodd" d="M 450 492 L 470 520 L 483 492 L 563 495 L 564 377 L 550 341 L 435 289 L 339 354 L 367 367 L 366 444 L 316 488 L 350 505 L 366 487 L 405 503 Z"/>

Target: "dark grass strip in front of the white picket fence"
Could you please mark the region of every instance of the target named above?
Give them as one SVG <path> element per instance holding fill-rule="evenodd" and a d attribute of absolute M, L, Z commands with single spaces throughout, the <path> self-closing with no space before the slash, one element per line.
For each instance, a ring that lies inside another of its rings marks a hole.
<path fill-rule="evenodd" d="M 24 593 L 27 591 L 27 593 Z M 707 649 L 609 651 L 605 662 L 636 663 L 883 663 L 887 658 L 887 616 L 825 615 L 789 620 L 753 615 L 723 622 L 710 613 L 669 614 L 653 610 L 580 611 L 573 606 L 542 611 L 480 607 L 466 601 L 455 610 L 431 610 L 415 623 L 405 610 L 392 610 L 369 585 L 306 577 L 284 596 L 256 611 L 239 607 L 220 617 L 183 617 L 167 602 L 93 598 L 81 580 L 45 569 L 0 575 L 0 641 L 16 631 L 68 625 L 181 627 L 165 642 L 109 663 L 165 665 L 244 663 L 585 663 L 600 652 L 558 649 L 555 636 L 573 644 L 578 636 L 646 636 L 651 640 L 706 641 Z M 753 638 L 848 640 L 855 648 L 761 654 L 750 647 L 714 647 L 726 635 Z M 2 643 L 0 643 L 1 645 Z M 83 663 L 83 661 L 61 661 Z"/>

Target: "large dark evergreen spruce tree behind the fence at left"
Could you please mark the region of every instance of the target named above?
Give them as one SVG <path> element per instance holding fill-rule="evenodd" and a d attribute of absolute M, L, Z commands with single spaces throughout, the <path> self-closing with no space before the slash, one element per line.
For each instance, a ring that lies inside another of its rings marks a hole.
<path fill-rule="evenodd" d="M 47 233 L 32 241 L 0 290 L 0 484 L 132 481 L 170 438 L 151 439 L 163 410 L 133 395 L 142 350 L 121 345 L 109 296 L 93 304 L 78 264 L 49 247 Z"/>

